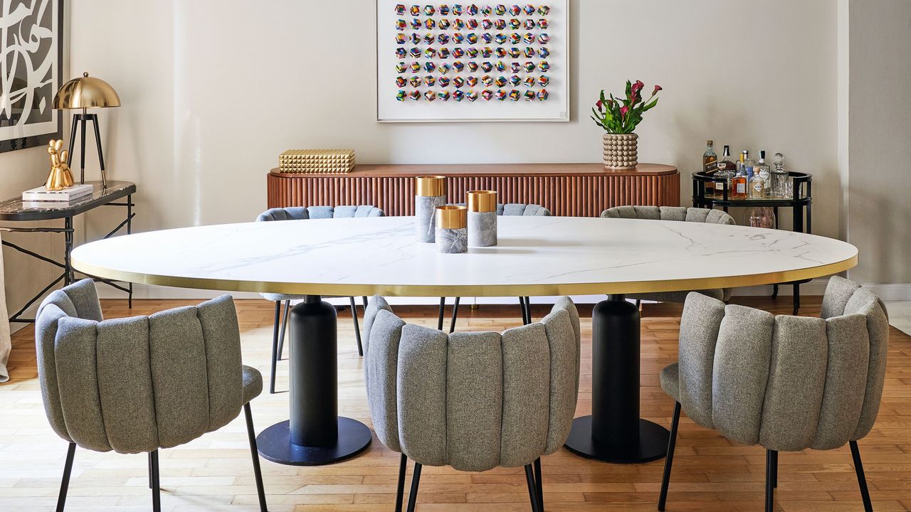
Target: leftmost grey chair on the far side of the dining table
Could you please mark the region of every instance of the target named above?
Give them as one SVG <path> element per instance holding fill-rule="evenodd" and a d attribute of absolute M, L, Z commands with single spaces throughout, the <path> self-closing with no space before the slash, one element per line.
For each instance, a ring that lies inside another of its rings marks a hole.
<path fill-rule="evenodd" d="M 307 219 L 343 219 L 352 217 L 383 217 L 383 210 L 374 206 L 311 206 L 311 207 L 289 207 L 289 208 L 271 208 L 263 211 L 257 222 L 265 220 L 307 220 Z M 261 293 L 262 298 L 267 301 L 275 302 L 275 321 L 272 325 L 272 367 L 269 377 L 269 393 L 275 393 L 275 366 L 281 359 L 281 353 L 284 352 L 284 333 L 288 326 L 289 310 L 291 310 L 292 301 L 301 301 L 305 295 L 294 295 L 291 293 Z M 284 302 L 284 312 L 281 311 L 281 303 Z M 361 348 L 361 329 L 357 324 L 357 304 L 354 303 L 353 297 L 348 297 L 351 305 L 351 317 L 354 322 L 354 339 L 357 341 L 357 353 L 363 355 Z M 363 307 L 367 308 L 367 298 L 363 297 Z"/>

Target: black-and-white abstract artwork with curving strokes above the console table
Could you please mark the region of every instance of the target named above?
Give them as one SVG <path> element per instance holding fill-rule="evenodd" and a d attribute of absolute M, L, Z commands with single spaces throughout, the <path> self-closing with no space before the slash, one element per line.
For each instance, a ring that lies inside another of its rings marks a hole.
<path fill-rule="evenodd" d="M 63 0 L 0 2 L 0 152 L 61 137 Z"/>

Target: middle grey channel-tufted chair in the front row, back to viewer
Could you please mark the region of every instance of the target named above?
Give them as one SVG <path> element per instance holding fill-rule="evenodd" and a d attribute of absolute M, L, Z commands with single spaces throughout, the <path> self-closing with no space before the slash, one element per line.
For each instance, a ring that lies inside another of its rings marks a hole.
<path fill-rule="evenodd" d="M 560 299 L 540 323 L 504 333 L 453 333 L 405 324 L 375 296 L 363 320 L 364 380 L 377 437 L 421 467 L 486 471 L 525 466 L 533 511 L 543 511 L 540 457 L 569 435 L 578 398 L 576 306 Z"/>

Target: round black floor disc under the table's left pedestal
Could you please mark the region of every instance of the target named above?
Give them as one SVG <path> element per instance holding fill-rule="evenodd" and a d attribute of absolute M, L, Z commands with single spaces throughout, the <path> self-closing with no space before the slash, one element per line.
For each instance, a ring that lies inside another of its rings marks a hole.
<path fill-rule="evenodd" d="M 339 416 L 339 439 L 334 446 L 302 446 L 291 442 L 288 421 L 263 430 L 256 436 L 260 455 L 266 460 L 288 466 L 322 466 L 356 456 L 370 445 L 367 425 Z"/>

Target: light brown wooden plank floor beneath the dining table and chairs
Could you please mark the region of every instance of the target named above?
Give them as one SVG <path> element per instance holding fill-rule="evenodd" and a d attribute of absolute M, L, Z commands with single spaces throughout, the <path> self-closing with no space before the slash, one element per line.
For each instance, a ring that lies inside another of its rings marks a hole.
<path fill-rule="evenodd" d="M 772 312 L 790 312 L 788 298 L 734 301 Z M 819 310 L 805 298 L 804 314 Z M 105 301 L 108 318 L 160 311 L 189 302 Z M 269 374 L 271 302 L 238 301 L 246 364 Z M 589 306 L 582 308 L 585 316 Z M 540 318 L 546 310 L 536 309 Z M 399 308 L 411 323 L 435 326 L 432 308 Z M 500 330 L 518 323 L 518 308 L 484 306 L 460 311 L 460 328 Z M 673 403 L 660 390 L 660 369 L 677 358 L 680 307 L 647 305 L 642 322 L 642 415 L 670 425 Z M 361 359 L 347 312 L 339 315 L 339 410 L 370 424 L 364 399 Z M 33 331 L 14 336 L 12 381 L 0 385 L 0 511 L 53 510 L 67 444 L 47 425 L 36 381 Z M 582 380 L 578 415 L 591 399 L 591 323 L 583 318 Z M 288 365 L 279 366 L 281 390 Z M 259 430 L 287 419 L 288 394 L 268 392 L 252 402 Z M 189 445 L 161 451 L 164 510 L 257 510 L 243 415 L 218 432 Z M 860 442 L 875 510 L 911 510 L 911 337 L 892 330 L 885 394 L 873 432 Z M 272 512 L 391 511 L 399 456 L 375 440 L 361 456 L 333 466 L 292 467 L 262 461 Z M 667 510 L 763 509 L 765 456 L 757 446 L 732 445 L 711 430 L 681 420 Z M 78 449 L 67 510 L 151 509 L 147 457 L 98 454 Z M 548 510 L 654 510 L 663 462 L 616 466 L 591 462 L 561 449 L 545 457 L 544 495 Z M 845 448 L 783 453 L 775 509 L 786 511 L 863 510 L 851 456 Z M 425 467 L 418 510 L 526 511 L 521 468 L 461 473 Z"/>

